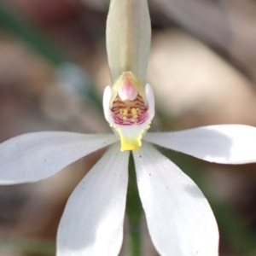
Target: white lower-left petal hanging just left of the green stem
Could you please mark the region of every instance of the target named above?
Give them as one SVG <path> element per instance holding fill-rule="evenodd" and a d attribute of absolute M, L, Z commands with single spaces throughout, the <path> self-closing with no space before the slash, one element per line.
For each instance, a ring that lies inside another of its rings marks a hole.
<path fill-rule="evenodd" d="M 58 256 L 114 256 L 123 240 L 129 152 L 115 144 L 67 201 L 57 236 Z"/>

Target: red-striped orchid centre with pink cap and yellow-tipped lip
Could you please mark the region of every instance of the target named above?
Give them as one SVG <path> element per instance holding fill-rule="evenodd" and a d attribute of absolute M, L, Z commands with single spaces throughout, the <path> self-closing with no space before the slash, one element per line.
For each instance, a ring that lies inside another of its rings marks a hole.
<path fill-rule="evenodd" d="M 111 88 L 104 91 L 105 118 L 119 137 L 121 151 L 138 150 L 154 117 L 154 93 L 131 72 L 122 73 Z"/>

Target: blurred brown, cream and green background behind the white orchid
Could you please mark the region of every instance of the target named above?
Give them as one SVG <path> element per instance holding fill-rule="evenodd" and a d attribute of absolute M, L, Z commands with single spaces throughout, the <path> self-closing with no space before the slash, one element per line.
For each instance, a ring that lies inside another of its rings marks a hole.
<path fill-rule="evenodd" d="M 111 132 L 102 90 L 109 0 L 0 1 L 0 142 L 32 131 Z M 148 0 L 151 131 L 256 126 L 256 2 Z M 249 147 L 250 145 L 248 145 Z M 68 196 L 104 150 L 42 182 L 0 186 L 0 255 L 55 255 Z M 221 256 L 256 255 L 256 165 L 162 152 L 195 180 L 218 220 Z M 170 241 L 172 242 L 172 241 Z M 125 246 L 120 255 L 127 255 Z M 156 256 L 143 224 L 143 255 Z"/>

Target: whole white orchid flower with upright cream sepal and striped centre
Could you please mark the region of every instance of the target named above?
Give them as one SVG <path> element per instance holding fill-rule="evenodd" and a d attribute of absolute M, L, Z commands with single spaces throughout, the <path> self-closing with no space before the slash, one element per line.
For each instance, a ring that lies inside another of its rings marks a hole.
<path fill-rule="evenodd" d="M 57 255 L 118 255 L 123 240 L 128 158 L 149 234 L 160 255 L 218 255 L 218 226 L 196 184 L 151 143 L 222 164 L 256 161 L 256 129 L 211 125 L 147 133 L 154 92 L 145 83 L 151 30 L 147 0 L 111 0 L 107 22 L 113 86 L 104 91 L 113 134 L 28 133 L 0 145 L 0 183 L 31 183 L 54 175 L 99 148 L 108 148 L 67 201 Z"/>

